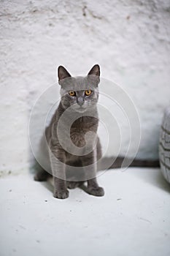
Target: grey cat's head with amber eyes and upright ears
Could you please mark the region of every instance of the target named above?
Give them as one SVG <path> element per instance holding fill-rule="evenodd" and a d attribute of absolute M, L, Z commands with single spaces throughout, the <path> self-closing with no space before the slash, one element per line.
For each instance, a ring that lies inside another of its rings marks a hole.
<path fill-rule="evenodd" d="M 61 85 L 61 104 L 63 108 L 72 107 L 83 113 L 98 102 L 98 83 L 100 67 L 96 64 L 85 77 L 72 77 L 63 67 L 58 67 L 58 83 Z"/>

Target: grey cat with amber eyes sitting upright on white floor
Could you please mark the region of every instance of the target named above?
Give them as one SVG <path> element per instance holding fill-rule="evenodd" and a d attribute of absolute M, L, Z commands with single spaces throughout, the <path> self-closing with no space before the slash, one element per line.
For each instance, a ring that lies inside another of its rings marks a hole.
<path fill-rule="evenodd" d="M 99 82 L 98 64 L 94 65 L 85 77 L 72 77 L 64 67 L 58 67 L 61 101 L 50 125 L 45 129 L 45 137 L 49 146 L 47 154 L 54 181 L 53 195 L 59 199 L 69 197 L 68 188 L 80 187 L 85 181 L 86 192 L 94 196 L 104 196 L 104 189 L 99 187 L 97 182 L 96 171 L 105 170 L 106 166 L 121 167 L 123 164 L 124 157 L 121 156 L 114 162 L 110 157 L 102 159 L 101 165 L 97 164 L 101 159 L 101 143 L 97 136 Z M 88 139 L 85 138 L 87 134 Z M 134 159 L 130 166 L 158 167 L 159 162 Z M 50 173 L 41 170 L 36 173 L 34 179 L 46 181 L 49 176 Z"/>

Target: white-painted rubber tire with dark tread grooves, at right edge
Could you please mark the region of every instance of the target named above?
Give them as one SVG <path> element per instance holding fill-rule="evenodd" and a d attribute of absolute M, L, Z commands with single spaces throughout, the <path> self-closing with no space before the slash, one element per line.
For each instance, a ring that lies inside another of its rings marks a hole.
<path fill-rule="evenodd" d="M 170 107 L 166 108 L 161 125 L 159 160 L 161 172 L 170 183 Z"/>

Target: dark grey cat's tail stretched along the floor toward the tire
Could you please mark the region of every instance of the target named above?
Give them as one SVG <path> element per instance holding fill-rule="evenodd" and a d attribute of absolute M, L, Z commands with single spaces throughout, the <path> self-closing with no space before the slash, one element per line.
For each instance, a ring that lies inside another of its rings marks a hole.
<path fill-rule="evenodd" d="M 112 157 L 104 157 L 104 159 L 101 160 L 101 166 L 100 170 L 106 170 L 112 169 L 112 168 L 120 168 L 126 167 L 125 162 L 131 162 L 130 165 L 127 165 L 128 167 L 160 167 L 160 163 L 158 159 L 125 159 L 124 157 L 117 157 L 115 160 Z"/>

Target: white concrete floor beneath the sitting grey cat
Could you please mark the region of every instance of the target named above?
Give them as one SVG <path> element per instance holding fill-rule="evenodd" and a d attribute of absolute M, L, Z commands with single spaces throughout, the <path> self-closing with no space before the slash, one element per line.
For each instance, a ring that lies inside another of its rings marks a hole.
<path fill-rule="evenodd" d="M 109 170 L 104 197 L 53 197 L 33 176 L 0 179 L 0 255 L 170 255 L 170 185 L 159 169 Z"/>

